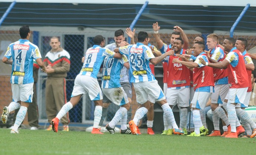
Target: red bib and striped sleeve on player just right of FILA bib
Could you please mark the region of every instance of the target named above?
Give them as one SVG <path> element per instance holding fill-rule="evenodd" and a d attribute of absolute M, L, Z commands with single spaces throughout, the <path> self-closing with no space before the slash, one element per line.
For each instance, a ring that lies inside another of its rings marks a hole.
<path fill-rule="evenodd" d="M 194 80 L 194 90 L 199 87 L 206 87 L 206 86 L 214 86 L 213 80 L 213 68 L 209 66 L 202 66 L 199 58 L 206 59 L 208 62 L 207 54 L 202 52 L 200 55 L 197 56 L 195 63 L 197 63 L 200 68 L 194 68 L 193 70 L 193 80 Z"/>

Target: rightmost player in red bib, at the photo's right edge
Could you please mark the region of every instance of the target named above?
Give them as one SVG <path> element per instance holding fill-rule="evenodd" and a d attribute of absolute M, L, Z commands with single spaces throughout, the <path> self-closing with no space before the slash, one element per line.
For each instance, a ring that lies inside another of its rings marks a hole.
<path fill-rule="evenodd" d="M 237 50 L 239 50 L 243 54 L 243 60 L 244 60 L 244 63 L 245 63 L 246 72 L 248 74 L 249 87 L 248 87 L 248 90 L 246 92 L 244 103 L 241 104 L 241 109 L 244 110 L 244 108 L 249 106 L 249 101 L 250 101 L 250 97 L 251 97 L 251 93 L 252 93 L 251 76 L 252 76 L 252 70 L 254 70 L 254 64 L 252 62 L 252 58 L 249 56 L 249 54 L 247 54 L 247 52 L 245 50 L 246 47 L 247 47 L 247 40 L 246 39 L 238 38 L 236 40 L 235 47 L 237 48 Z M 236 108 L 236 111 L 238 111 L 238 110 L 241 111 L 239 108 Z M 240 118 L 240 120 L 242 121 L 243 127 L 246 131 L 246 134 L 241 135 L 241 137 L 243 137 L 243 138 L 250 137 L 252 135 L 252 129 L 251 129 L 250 124 L 247 123 L 243 118 Z"/>

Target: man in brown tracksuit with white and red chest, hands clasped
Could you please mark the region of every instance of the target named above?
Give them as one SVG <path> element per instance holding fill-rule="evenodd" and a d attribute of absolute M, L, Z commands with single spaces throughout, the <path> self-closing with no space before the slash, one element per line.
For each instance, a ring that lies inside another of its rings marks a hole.
<path fill-rule="evenodd" d="M 52 49 L 47 52 L 44 63 L 47 66 L 47 80 L 45 87 L 46 114 L 50 123 L 62 106 L 67 102 L 66 99 L 66 77 L 70 69 L 70 55 L 60 47 L 58 37 L 50 39 Z M 63 131 L 69 131 L 68 113 L 60 120 L 63 124 Z M 50 125 L 46 130 L 52 130 Z"/>

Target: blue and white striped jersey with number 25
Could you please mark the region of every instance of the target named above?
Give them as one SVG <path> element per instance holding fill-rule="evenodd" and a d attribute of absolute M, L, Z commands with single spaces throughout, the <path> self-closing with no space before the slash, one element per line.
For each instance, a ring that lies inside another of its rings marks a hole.
<path fill-rule="evenodd" d="M 119 52 L 129 58 L 132 83 L 155 80 L 149 66 L 149 60 L 155 56 L 148 46 L 138 42 L 135 45 L 120 47 Z"/>

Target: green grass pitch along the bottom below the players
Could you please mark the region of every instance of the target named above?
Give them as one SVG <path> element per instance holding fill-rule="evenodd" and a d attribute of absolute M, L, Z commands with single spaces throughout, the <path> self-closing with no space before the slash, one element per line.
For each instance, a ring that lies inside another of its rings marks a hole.
<path fill-rule="evenodd" d="M 256 138 L 187 137 L 183 135 L 95 135 L 85 131 L 0 129 L 0 154 L 162 155 L 256 154 Z"/>

